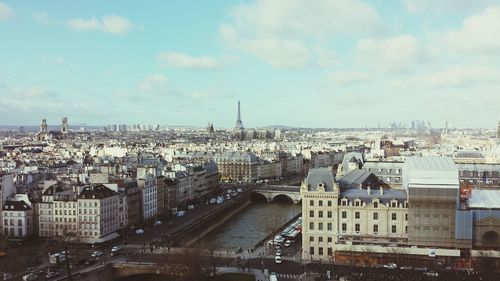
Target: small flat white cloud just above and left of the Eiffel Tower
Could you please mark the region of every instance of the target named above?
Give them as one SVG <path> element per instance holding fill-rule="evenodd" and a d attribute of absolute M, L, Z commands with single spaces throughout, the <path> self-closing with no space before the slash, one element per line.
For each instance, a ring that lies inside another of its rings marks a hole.
<path fill-rule="evenodd" d="M 238 61 L 238 58 L 234 56 L 223 56 L 221 58 L 209 56 L 193 57 L 177 52 L 161 52 L 157 59 L 163 67 L 197 70 L 222 68 Z"/>

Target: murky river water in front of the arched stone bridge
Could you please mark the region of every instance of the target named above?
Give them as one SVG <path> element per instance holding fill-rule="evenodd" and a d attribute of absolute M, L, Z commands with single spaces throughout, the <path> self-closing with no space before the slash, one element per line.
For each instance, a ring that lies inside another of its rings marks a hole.
<path fill-rule="evenodd" d="M 296 204 L 254 202 L 199 243 L 207 248 L 249 249 L 300 212 Z"/>

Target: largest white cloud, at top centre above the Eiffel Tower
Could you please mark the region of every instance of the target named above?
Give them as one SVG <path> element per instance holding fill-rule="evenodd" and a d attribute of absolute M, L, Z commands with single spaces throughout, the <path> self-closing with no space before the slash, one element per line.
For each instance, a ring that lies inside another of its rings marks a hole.
<path fill-rule="evenodd" d="M 376 10 L 357 0 L 259 0 L 235 6 L 230 17 L 219 29 L 224 43 L 275 68 L 305 66 L 309 42 L 385 29 Z"/>

